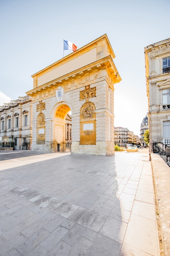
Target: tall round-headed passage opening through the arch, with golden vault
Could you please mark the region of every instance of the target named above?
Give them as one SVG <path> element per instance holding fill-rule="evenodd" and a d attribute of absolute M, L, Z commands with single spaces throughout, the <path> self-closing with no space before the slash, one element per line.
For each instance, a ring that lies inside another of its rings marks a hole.
<path fill-rule="evenodd" d="M 71 136 L 71 117 L 69 112 L 70 107 L 65 103 L 57 104 L 52 117 L 52 151 L 66 151 L 70 149 Z"/>

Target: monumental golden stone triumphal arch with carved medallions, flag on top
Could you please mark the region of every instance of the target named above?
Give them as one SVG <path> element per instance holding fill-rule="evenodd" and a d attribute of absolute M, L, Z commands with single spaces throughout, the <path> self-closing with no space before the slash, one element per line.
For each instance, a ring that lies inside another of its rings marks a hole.
<path fill-rule="evenodd" d="M 32 76 L 32 150 L 65 151 L 71 113 L 72 154 L 114 154 L 113 58 L 105 34 Z"/>

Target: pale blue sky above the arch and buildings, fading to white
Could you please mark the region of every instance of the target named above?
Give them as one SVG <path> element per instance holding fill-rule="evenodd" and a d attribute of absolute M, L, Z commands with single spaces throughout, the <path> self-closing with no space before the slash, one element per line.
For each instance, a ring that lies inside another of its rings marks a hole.
<path fill-rule="evenodd" d="M 0 0 L 0 106 L 33 89 L 31 75 L 107 34 L 122 78 L 115 126 L 140 134 L 148 111 L 144 47 L 170 38 L 169 0 Z M 72 51 L 64 51 L 64 56 Z"/>

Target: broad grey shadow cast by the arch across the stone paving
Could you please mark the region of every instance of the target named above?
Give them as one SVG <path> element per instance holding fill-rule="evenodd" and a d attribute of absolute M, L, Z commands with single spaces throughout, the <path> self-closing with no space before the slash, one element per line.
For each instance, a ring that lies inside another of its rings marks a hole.
<path fill-rule="evenodd" d="M 26 156 L 32 152 L 0 159 Z M 0 171 L 0 191 L 10 197 L 0 208 L 1 253 L 37 255 L 41 248 L 41 255 L 119 256 L 128 216 L 122 219 L 118 175 L 114 156 L 92 155 L 44 158 Z"/>

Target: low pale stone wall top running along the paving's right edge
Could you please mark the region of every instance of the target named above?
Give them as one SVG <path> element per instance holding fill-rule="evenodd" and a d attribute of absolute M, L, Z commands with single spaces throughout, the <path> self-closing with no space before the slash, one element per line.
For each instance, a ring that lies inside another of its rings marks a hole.
<path fill-rule="evenodd" d="M 170 255 L 170 167 L 160 155 L 151 153 L 150 160 L 155 181 L 156 200 L 162 233 L 163 251 Z"/>

